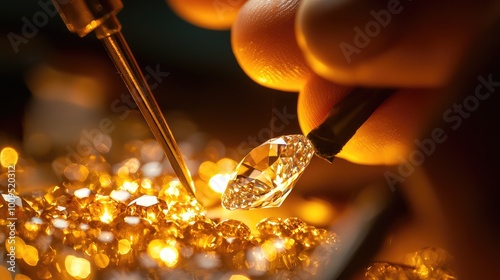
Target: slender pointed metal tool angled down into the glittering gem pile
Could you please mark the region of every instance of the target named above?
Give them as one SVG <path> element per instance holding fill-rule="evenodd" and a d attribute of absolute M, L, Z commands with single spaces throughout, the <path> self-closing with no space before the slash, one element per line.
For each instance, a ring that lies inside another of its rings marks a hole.
<path fill-rule="evenodd" d="M 95 31 L 97 38 L 104 43 L 153 135 L 163 147 L 179 181 L 188 193 L 195 197 L 194 183 L 180 149 L 120 32 L 121 24 L 116 14 L 123 8 L 121 0 L 70 0 L 64 1 L 66 4 L 57 0 L 53 2 L 71 32 L 83 37 Z"/>

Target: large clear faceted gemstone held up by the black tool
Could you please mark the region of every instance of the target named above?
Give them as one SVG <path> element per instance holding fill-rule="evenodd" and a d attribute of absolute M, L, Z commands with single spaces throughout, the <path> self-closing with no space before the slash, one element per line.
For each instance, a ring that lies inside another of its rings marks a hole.
<path fill-rule="evenodd" d="M 280 206 L 313 154 L 304 135 L 266 141 L 238 164 L 222 195 L 222 206 L 229 210 Z"/>

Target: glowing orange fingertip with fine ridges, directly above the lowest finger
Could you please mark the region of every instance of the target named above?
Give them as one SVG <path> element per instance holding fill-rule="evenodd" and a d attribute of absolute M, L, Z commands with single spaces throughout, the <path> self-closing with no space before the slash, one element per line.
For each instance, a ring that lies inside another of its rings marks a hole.
<path fill-rule="evenodd" d="M 234 55 L 257 83 L 299 91 L 311 73 L 295 39 L 298 0 L 250 0 L 231 29 Z"/>

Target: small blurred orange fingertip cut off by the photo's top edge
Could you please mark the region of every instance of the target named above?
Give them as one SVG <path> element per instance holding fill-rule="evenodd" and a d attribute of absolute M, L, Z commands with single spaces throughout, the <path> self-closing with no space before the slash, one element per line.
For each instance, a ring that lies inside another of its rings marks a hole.
<path fill-rule="evenodd" d="M 230 29 L 246 0 L 167 0 L 185 21 L 215 30 Z"/>

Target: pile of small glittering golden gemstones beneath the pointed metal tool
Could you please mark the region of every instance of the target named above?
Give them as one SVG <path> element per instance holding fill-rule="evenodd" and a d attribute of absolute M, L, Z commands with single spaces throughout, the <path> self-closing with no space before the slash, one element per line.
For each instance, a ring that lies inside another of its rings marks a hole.
<path fill-rule="evenodd" d="M 14 275 L 15 255 L 18 280 L 311 279 L 338 250 L 335 233 L 298 218 L 266 218 L 257 232 L 208 218 L 162 162 L 144 161 L 143 144 L 113 165 L 99 154 L 56 161 L 61 183 L 43 190 L 22 192 L 19 163 L 9 194 L 2 166 L 0 277 Z"/>

